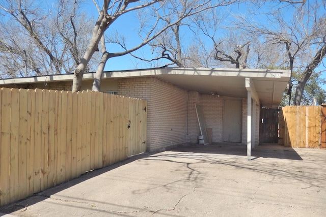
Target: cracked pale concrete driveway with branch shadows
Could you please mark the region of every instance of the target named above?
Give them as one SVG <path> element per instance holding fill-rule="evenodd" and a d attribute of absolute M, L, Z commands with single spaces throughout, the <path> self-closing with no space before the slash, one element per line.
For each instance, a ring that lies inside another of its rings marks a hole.
<path fill-rule="evenodd" d="M 326 150 L 195 145 L 140 154 L 0 208 L 16 216 L 325 216 Z"/>

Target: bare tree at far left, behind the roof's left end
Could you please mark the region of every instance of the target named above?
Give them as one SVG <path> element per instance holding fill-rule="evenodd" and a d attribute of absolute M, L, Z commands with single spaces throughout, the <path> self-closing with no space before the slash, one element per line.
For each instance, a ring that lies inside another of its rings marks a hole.
<path fill-rule="evenodd" d="M 6 0 L 0 3 L 0 14 L 2 76 L 70 73 L 79 64 L 90 31 L 78 0 L 51 5 Z"/>

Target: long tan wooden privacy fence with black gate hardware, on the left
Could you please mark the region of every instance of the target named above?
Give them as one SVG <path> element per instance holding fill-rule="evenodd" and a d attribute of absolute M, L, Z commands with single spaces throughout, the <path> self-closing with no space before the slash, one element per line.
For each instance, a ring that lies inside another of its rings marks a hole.
<path fill-rule="evenodd" d="M 144 100 L 2 88 L 0 102 L 0 205 L 146 151 Z"/>

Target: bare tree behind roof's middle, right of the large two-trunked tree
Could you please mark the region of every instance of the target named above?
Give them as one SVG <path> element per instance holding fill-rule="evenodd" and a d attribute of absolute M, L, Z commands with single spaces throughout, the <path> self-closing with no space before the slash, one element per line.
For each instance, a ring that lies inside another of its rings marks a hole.
<path fill-rule="evenodd" d="M 157 60 L 167 60 L 166 66 L 176 65 L 178 67 L 210 67 L 212 65 L 213 51 L 207 46 L 202 35 L 217 27 L 221 20 L 226 18 L 228 13 L 221 13 L 220 8 L 225 8 L 242 1 L 218 1 L 215 7 L 205 10 L 205 13 L 196 13 L 186 20 L 176 23 L 168 28 L 165 34 L 156 37 L 149 43 L 152 52 L 156 54 L 154 58 L 146 58 L 131 54 L 133 57 L 151 63 Z M 185 2 L 194 4 L 196 2 Z M 189 5 L 183 3 L 183 7 Z M 170 11 L 177 11 L 177 7 L 172 7 Z M 184 9 L 183 9 L 184 10 Z M 182 14 L 179 14 L 182 16 Z M 171 15 L 166 15 L 167 23 L 171 20 Z M 144 21 L 145 22 L 145 21 Z M 200 29 L 200 30 L 199 30 Z M 215 30 L 214 30 L 215 31 Z M 189 33 L 192 33 L 190 35 Z M 209 33 L 210 34 L 210 33 Z M 210 35 L 209 35 L 210 36 Z M 183 40 L 185 38 L 185 40 Z"/>

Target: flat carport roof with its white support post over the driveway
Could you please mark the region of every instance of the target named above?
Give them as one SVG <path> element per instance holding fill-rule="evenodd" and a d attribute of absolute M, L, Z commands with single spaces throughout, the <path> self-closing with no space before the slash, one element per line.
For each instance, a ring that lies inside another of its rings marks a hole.
<path fill-rule="evenodd" d="M 251 150 L 258 145 L 254 139 L 259 130 L 256 106 L 277 108 L 290 79 L 289 70 L 259 69 L 164 68 L 148 75 L 201 94 L 247 98 L 248 160 Z"/>

